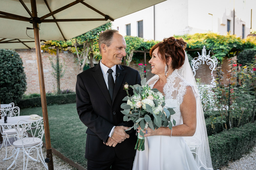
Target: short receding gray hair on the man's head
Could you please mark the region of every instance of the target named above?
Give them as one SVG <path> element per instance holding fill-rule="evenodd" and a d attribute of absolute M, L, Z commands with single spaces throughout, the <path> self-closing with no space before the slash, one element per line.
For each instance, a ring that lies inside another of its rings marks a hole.
<path fill-rule="evenodd" d="M 107 47 L 111 45 L 114 33 L 119 33 L 117 30 L 106 30 L 100 33 L 99 36 L 99 50 L 101 54 L 101 44 L 106 44 Z"/>

